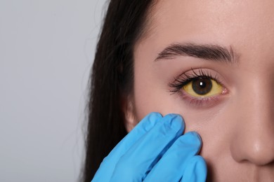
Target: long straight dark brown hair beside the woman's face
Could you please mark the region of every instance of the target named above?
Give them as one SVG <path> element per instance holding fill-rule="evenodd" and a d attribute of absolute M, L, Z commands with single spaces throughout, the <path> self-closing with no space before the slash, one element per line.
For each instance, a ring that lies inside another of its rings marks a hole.
<path fill-rule="evenodd" d="M 123 101 L 133 89 L 133 48 L 143 34 L 152 0 L 111 0 L 89 86 L 86 159 L 81 181 L 91 181 L 100 162 L 126 135 Z"/>

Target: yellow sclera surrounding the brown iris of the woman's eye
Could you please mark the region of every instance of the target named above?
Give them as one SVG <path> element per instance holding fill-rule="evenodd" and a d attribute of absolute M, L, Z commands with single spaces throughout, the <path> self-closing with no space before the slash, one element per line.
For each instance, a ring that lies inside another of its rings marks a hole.
<path fill-rule="evenodd" d="M 218 84 L 215 80 L 207 78 L 211 81 L 211 89 L 206 94 L 199 94 L 193 90 L 193 80 L 187 85 L 183 86 L 183 90 L 193 97 L 212 97 L 223 92 L 223 86 Z"/>

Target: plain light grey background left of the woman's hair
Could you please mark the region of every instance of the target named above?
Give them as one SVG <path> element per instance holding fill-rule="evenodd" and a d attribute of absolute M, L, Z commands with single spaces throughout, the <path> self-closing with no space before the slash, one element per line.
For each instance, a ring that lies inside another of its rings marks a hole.
<path fill-rule="evenodd" d="M 0 0 L 0 181 L 76 181 L 105 0 Z"/>

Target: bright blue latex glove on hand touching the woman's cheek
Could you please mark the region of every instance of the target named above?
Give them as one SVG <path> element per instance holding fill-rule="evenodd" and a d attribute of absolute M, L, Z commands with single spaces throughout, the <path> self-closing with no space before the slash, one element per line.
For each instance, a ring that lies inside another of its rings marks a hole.
<path fill-rule="evenodd" d="M 150 113 L 107 155 L 92 181 L 205 181 L 207 165 L 197 155 L 201 139 L 183 134 L 184 127 L 177 114 Z"/>

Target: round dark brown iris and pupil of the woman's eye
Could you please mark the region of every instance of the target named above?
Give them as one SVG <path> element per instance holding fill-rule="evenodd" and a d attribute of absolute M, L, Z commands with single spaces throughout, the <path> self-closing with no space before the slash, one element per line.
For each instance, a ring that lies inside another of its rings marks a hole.
<path fill-rule="evenodd" d="M 197 94 L 208 94 L 212 88 L 211 79 L 209 78 L 196 78 L 193 80 L 193 90 Z"/>

